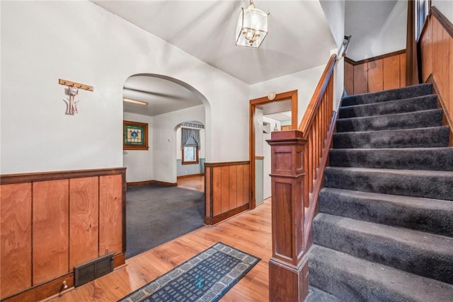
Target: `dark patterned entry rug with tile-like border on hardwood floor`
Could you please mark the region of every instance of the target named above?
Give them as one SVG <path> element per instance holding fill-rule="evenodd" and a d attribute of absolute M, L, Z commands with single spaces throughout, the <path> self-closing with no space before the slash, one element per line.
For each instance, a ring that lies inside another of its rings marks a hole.
<path fill-rule="evenodd" d="M 216 243 L 120 302 L 219 301 L 259 261 L 258 257 Z"/>

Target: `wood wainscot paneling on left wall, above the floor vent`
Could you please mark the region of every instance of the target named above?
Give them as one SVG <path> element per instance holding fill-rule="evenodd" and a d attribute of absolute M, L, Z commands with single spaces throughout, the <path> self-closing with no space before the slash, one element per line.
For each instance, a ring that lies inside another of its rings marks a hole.
<path fill-rule="evenodd" d="M 0 175 L 0 298 L 40 301 L 75 265 L 125 263 L 125 168 Z"/>

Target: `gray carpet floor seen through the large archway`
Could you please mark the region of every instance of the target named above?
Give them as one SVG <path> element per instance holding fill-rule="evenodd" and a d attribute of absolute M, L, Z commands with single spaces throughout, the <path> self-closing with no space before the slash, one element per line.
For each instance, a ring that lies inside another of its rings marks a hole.
<path fill-rule="evenodd" d="M 126 258 L 202 227 L 205 193 L 145 185 L 126 193 Z"/>

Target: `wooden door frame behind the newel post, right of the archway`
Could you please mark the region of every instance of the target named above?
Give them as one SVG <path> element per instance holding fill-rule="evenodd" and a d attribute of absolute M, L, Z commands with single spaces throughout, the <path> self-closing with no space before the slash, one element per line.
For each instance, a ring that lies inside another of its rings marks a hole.
<path fill-rule="evenodd" d="M 248 158 L 250 158 L 250 190 L 251 190 L 251 198 L 250 198 L 250 209 L 255 209 L 256 207 L 256 192 L 255 192 L 255 161 L 256 161 L 256 150 L 255 150 L 255 112 L 256 106 L 264 105 L 268 103 L 279 102 L 282 100 L 291 99 L 291 127 L 292 129 L 297 129 L 297 90 L 295 91 L 287 91 L 284 93 L 277 93 L 273 100 L 270 100 L 267 96 L 262 98 L 254 98 L 250 100 L 249 105 L 249 126 L 248 126 Z M 270 155 L 270 154 L 269 154 Z"/>

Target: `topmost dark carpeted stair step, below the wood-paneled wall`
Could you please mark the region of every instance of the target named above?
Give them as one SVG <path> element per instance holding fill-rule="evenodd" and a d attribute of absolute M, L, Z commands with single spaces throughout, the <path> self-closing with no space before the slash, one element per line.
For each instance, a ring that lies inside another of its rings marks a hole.
<path fill-rule="evenodd" d="M 400 100 L 403 98 L 413 98 L 420 95 L 432 93 L 432 84 L 424 83 L 403 88 L 390 89 L 375 93 L 363 93 L 350 95 L 343 98 L 343 106 L 360 105 L 369 103 L 386 102 L 388 100 Z"/>

